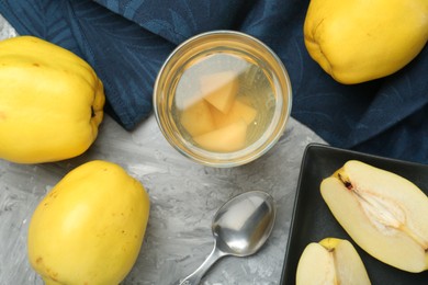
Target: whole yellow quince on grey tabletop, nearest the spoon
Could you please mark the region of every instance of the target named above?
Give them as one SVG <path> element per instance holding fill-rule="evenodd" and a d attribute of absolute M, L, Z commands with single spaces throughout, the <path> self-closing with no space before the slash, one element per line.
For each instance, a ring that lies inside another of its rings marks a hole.
<path fill-rule="evenodd" d="M 46 285 L 114 285 L 133 267 L 149 216 L 143 185 L 95 160 L 70 171 L 41 201 L 29 228 L 29 258 Z"/>

